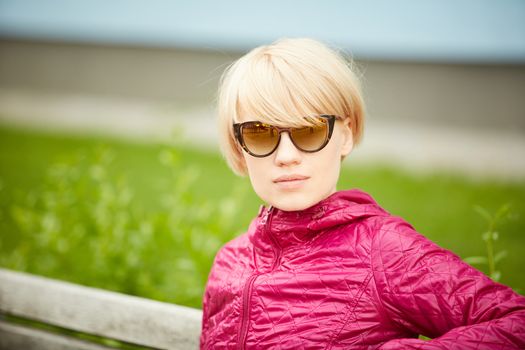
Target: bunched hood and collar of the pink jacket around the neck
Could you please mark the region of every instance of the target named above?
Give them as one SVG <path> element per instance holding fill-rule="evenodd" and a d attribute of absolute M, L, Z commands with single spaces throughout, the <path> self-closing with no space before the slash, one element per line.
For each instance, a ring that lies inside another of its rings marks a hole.
<path fill-rule="evenodd" d="M 271 238 L 272 243 L 285 247 L 312 239 L 320 231 L 371 216 L 387 215 L 389 213 L 366 192 L 359 189 L 338 191 L 304 210 L 284 211 L 262 206 L 250 240 L 257 245 L 257 241 Z"/>

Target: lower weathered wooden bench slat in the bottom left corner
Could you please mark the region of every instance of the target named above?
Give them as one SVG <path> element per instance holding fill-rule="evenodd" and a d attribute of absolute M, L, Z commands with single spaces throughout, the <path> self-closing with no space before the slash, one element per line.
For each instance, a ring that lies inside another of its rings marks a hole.
<path fill-rule="evenodd" d="M 0 350 L 110 350 L 64 335 L 26 328 L 0 321 Z"/>

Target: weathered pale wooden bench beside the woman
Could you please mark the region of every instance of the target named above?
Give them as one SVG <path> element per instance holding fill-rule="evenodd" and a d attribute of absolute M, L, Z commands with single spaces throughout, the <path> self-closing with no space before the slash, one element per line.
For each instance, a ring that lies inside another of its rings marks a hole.
<path fill-rule="evenodd" d="M 201 317 L 189 307 L 0 269 L 0 349 L 111 348 L 16 318 L 143 347 L 198 349 Z"/>

